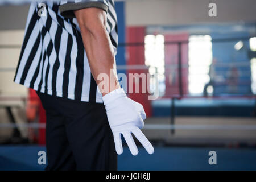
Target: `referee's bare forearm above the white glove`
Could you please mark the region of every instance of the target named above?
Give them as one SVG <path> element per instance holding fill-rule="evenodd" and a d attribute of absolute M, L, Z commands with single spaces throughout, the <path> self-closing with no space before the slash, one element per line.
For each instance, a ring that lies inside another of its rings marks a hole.
<path fill-rule="evenodd" d="M 104 22 L 104 20 L 102 21 Z M 94 80 L 96 80 L 97 85 L 100 84 L 102 80 L 98 80 L 98 76 L 102 73 L 107 76 L 104 79 L 108 79 L 108 85 L 104 85 L 104 90 L 100 87 L 101 93 L 105 95 L 116 88 L 120 88 L 116 75 L 114 51 L 105 23 L 98 23 L 93 28 L 88 28 L 82 21 L 79 22 L 82 40 Z"/>

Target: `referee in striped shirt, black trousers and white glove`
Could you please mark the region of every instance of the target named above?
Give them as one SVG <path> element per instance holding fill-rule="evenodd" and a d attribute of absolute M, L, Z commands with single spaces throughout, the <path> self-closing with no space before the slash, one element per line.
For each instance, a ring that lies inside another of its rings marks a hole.
<path fill-rule="evenodd" d="M 121 135 L 138 154 L 131 133 L 154 152 L 140 130 L 143 106 L 119 86 L 117 43 L 114 0 L 31 3 L 14 81 L 46 110 L 46 170 L 117 170 Z"/>

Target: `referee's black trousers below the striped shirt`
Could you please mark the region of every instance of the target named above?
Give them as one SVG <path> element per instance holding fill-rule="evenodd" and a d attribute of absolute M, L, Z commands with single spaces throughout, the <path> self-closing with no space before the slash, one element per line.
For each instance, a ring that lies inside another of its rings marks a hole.
<path fill-rule="evenodd" d="M 36 93 L 46 110 L 46 170 L 117 170 L 104 104 Z"/>

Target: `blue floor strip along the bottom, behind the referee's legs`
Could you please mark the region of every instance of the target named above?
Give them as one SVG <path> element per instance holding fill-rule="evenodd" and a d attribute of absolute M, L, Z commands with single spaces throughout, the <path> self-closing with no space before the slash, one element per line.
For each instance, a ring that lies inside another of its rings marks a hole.
<path fill-rule="evenodd" d="M 217 164 L 208 163 L 209 151 L 216 151 Z M 38 152 L 43 146 L 0 146 L 0 170 L 43 170 L 38 164 Z M 253 148 L 155 147 L 148 155 L 139 147 L 133 156 L 123 148 L 118 156 L 119 170 L 256 170 L 256 150 Z"/>

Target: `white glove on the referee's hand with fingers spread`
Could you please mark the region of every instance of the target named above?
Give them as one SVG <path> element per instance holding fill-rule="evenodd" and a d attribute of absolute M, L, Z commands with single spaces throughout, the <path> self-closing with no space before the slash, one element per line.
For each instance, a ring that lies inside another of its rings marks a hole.
<path fill-rule="evenodd" d="M 153 154 L 154 148 L 152 144 L 140 130 L 144 126 L 143 119 L 146 119 L 143 106 L 128 98 L 123 89 L 113 90 L 103 96 L 102 100 L 106 108 L 110 128 L 114 135 L 117 154 L 122 154 L 123 152 L 121 134 L 125 138 L 131 154 L 138 154 L 138 148 L 131 133 L 146 148 L 148 154 Z"/>

